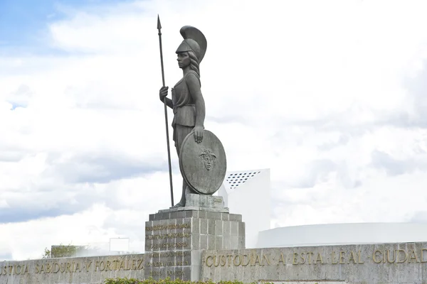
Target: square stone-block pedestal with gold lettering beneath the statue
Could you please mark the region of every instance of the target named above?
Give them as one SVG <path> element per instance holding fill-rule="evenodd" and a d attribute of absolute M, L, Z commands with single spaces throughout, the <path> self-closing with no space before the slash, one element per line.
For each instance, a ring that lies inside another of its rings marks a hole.
<path fill-rule="evenodd" d="M 150 214 L 145 222 L 145 279 L 196 281 L 202 251 L 245 249 L 242 216 L 219 206 L 222 197 L 189 195 L 186 204 Z"/>

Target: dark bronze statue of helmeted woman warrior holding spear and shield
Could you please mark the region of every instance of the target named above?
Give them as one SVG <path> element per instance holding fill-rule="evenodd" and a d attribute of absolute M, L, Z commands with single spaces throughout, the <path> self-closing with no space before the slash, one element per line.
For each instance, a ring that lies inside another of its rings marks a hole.
<path fill-rule="evenodd" d="M 184 40 L 176 49 L 176 60 L 183 76 L 171 89 L 172 99 L 167 97 L 169 87 L 164 86 L 159 90 L 160 101 L 174 112 L 172 136 L 183 175 L 181 200 L 173 208 L 185 207 L 186 195 L 189 193 L 211 195 L 216 192 L 225 177 L 226 163 L 221 142 L 213 133 L 204 130 L 206 110 L 201 94 L 200 63 L 206 53 L 206 38 L 201 31 L 192 26 L 183 26 L 179 32 Z M 162 45 L 160 47 L 162 57 Z M 206 135 L 208 136 L 206 143 L 209 145 L 204 145 Z M 221 157 L 219 162 L 224 166 L 215 170 L 218 155 Z M 203 167 L 196 162 L 201 163 Z M 201 172 L 201 168 L 206 172 Z"/>

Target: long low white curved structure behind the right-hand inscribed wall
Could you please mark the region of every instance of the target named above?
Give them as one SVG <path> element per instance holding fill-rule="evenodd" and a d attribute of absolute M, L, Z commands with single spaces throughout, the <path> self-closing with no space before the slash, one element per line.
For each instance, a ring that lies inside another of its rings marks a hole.
<path fill-rule="evenodd" d="M 354 223 L 285 226 L 260 231 L 257 248 L 427 241 L 427 224 Z"/>

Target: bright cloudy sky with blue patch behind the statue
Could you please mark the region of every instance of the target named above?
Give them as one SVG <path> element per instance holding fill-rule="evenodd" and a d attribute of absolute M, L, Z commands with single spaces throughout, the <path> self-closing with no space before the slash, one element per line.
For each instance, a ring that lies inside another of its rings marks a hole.
<path fill-rule="evenodd" d="M 115 237 L 143 251 L 148 214 L 170 205 L 157 14 L 169 87 L 182 76 L 179 28 L 206 35 L 205 127 L 228 170 L 270 168 L 272 228 L 427 223 L 425 11 L 423 0 L 0 0 L 0 259 Z M 172 168 L 178 200 L 173 148 Z"/>

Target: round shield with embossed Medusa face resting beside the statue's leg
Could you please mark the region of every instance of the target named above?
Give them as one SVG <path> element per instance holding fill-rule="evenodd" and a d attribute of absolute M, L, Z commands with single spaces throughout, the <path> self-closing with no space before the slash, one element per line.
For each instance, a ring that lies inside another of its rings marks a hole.
<path fill-rule="evenodd" d="M 179 151 L 179 168 L 186 183 L 201 195 L 213 195 L 226 177 L 226 151 L 211 131 L 204 130 L 201 143 L 191 132 Z"/>

